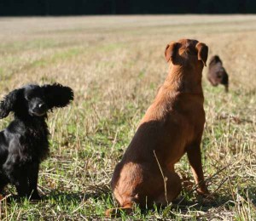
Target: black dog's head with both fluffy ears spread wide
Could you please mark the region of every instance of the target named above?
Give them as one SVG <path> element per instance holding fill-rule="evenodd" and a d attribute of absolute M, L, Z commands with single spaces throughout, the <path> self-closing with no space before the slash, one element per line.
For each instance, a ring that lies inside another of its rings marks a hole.
<path fill-rule="evenodd" d="M 47 111 L 54 107 L 64 107 L 73 100 L 73 90 L 55 83 L 26 85 L 23 88 L 10 92 L 0 103 L 0 118 L 9 115 L 15 116 L 46 116 Z"/>

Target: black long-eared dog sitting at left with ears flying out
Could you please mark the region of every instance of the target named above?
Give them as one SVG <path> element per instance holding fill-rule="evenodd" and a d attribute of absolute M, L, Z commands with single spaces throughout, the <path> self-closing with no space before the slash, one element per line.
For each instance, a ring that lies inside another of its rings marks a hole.
<path fill-rule="evenodd" d="M 15 120 L 0 132 L 0 192 L 15 184 L 18 195 L 39 200 L 39 164 L 49 155 L 47 111 L 73 100 L 73 90 L 61 84 L 27 85 L 0 103 L 0 118 L 12 111 Z"/>

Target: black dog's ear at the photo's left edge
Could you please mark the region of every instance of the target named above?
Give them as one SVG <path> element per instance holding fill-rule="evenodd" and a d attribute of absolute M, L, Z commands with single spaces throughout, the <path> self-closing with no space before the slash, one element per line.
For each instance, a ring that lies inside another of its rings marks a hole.
<path fill-rule="evenodd" d="M 15 106 L 18 103 L 22 89 L 15 89 L 7 94 L 0 102 L 0 118 L 4 118 L 9 115 L 10 111 L 15 111 Z"/>

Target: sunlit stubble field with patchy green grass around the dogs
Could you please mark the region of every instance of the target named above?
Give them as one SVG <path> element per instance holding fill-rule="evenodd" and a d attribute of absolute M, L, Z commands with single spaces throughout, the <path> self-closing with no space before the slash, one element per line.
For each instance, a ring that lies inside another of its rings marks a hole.
<path fill-rule="evenodd" d="M 17 200 L 5 190 L 2 220 L 102 219 L 117 207 L 109 182 L 138 122 L 164 82 L 166 44 L 193 38 L 218 54 L 230 93 L 203 71 L 207 123 L 201 144 L 214 200 L 195 192 L 186 156 L 177 201 L 122 219 L 255 220 L 256 15 L 0 18 L 0 94 L 27 83 L 73 88 L 72 105 L 49 113 L 51 154 L 41 165 L 43 200 Z M 0 121 L 7 127 L 13 116 Z"/>

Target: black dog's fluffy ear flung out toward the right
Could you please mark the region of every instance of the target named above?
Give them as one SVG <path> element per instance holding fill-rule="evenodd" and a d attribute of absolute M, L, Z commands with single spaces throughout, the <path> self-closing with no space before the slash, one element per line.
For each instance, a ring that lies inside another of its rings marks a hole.
<path fill-rule="evenodd" d="M 52 85 L 45 84 L 44 94 L 46 97 L 46 103 L 49 109 L 53 107 L 64 107 L 73 100 L 73 90 L 72 88 L 62 86 L 59 83 L 54 83 Z"/>

